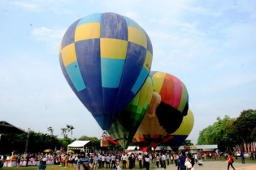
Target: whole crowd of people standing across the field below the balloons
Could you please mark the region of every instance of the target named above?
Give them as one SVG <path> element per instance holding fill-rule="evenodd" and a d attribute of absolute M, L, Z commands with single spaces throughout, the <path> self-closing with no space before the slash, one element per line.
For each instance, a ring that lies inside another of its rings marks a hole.
<path fill-rule="evenodd" d="M 84 155 L 83 155 L 84 153 Z M 243 157 L 241 153 L 241 159 Z M 112 153 L 93 153 L 85 154 L 85 152 L 80 153 L 67 153 L 63 151 L 62 153 L 24 153 L 23 155 L 12 153 L 10 159 L 15 159 L 17 168 L 20 168 L 20 161 L 26 160 L 25 165 L 37 165 L 38 169 L 45 170 L 47 161 L 50 159 L 52 164 L 61 166 L 62 168 L 75 168 L 80 169 L 79 164 L 81 159 L 86 159 L 89 161 L 90 168 L 93 170 L 98 170 L 99 168 L 110 168 L 115 170 L 120 169 L 132 169 L 136 166 L 136 161 L 138 164 L 137 168 L 145 168 L 149 170 L 154 164 L 156 168 L 166 169 L 168 165 L 173 164 L 178 170 L 194 170 L 195 164 L 198 166 L 203 166 L 202 156 L 197 155 L 197 153 L 186 153 L 184 151 L 180 152 L 119 152 L 118 154 Z M 227 156 L 228 168 L 233 167 L 232 154 L 228 153 Z M 36 161 L 37 164 L 29 164 Z M 244 163 L 243 163 L 244 164 Z"/>

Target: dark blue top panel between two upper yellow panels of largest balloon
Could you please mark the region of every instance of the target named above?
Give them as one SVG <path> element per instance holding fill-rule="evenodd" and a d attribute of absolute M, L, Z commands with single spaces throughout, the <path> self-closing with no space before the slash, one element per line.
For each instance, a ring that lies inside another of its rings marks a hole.
<path fill-rule="evenodd" d="M 128 40 L 128 28 L 124 17 L 114 13 L 103 13 L 101 37 Z"/>

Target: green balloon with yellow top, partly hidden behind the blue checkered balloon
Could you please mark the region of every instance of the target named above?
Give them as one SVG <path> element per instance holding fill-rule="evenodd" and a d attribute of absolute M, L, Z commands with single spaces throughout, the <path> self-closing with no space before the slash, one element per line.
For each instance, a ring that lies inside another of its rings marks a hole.
<path fill-rule="evenodd" d="M 111 138 L 118 141 L 124 149 L 132 142 L 132 138 L 150 106 L 152 92 L 152 79 L 148 77 L 137 96 L 133 98 L 128 107 L 119 114 L 111 128 L 107 130 Z"/>

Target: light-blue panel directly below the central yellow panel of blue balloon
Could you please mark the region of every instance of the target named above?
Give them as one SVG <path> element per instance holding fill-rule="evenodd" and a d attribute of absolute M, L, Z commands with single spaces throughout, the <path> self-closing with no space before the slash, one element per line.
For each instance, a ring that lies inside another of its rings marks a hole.
<path fill-rule="evenodd" d="M 102 58 L 102 87 L 117 88 L 124 70 L 125 60 Z M 105 68 L 105 70 L 103 70 Z M 106 69 L 107 68 L 107 69 Z"/>

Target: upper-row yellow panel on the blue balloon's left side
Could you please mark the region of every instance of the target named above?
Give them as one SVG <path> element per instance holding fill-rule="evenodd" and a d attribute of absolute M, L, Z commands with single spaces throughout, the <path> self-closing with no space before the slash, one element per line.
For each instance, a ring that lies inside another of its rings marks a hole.
<path fill-rule="evenodd" d="M 76 28 L 75 42 L 79 40 L 88 40 L 100 37 L 100 23 L 85 23 Z"/>

